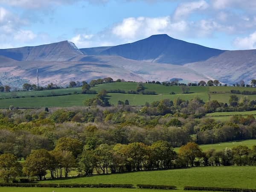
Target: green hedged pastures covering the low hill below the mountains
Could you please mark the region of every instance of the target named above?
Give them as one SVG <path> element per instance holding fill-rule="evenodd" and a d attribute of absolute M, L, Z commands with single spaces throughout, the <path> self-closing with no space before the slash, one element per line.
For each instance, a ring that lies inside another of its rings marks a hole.
<path fill-rule="evenodd" d="M 137 83 L 128 82 L 116 82 L 108 84 L 99 84 L 92 88 L 99 92 L 100 90 L 136 90 Z M 141 94 L 122 94 L 122 93 L 109 93 L 110 103 L 116 105 L 118 100 L 129 100 L 130 105 L 141 106 L 145 105 L 145 102 L 158 101 L 160 99 L 181 99 L 190 100 L 195 96 L 200 97 L 204 102 L 208 102 L 209 96 L 211 100 L 218 100 L 219 102 L 228 103 L 230 90 L 254 90 L 255 88 L 247 87 L 198 87 L 193 86 L 189 88 L 188 94 L 183 94 L 180 86 L 164 86 L 160 84 L 145 84 L 145 90 L 155 91 L 157 95 L 141 95 Z M 174 92 L 175 95 L 170 93 Z M 219 92 L 219 93 L 210 93 Z M 9 108 L 10 105 L 14 105 L 20 108 L 40 108 L 40 107 L 71 107 L 82 106 L 84 99 L 89 99 L 95 95 L 90 94 L 76 94 L 81 93 L 81 87 L 65 88 L 56 90 L 43 90 L 43 91 L 16 91 L 16 92 L 3 92 L 0 93 L 0 108 Z M 65 96 L 56 96 L 64 95 Z M 41 97 L 38 97 L 41 96 Z M 243 95 L 237 95 L 241 98 Z M 22 98 L 14 98 L 22 97 Z M 256 99 L 256 95 L 249 95 L 250 99 Z M 11 98 L 11 99 L 4 99 Z"/>

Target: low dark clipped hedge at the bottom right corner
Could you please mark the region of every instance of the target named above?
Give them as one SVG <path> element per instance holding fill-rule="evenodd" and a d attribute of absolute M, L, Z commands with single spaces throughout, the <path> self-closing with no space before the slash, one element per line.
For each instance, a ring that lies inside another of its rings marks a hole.
<path fill-rule="evenodd" d="M 256 192 L 256 189 L 241 189 L 228 187 L 184 186 L 184 190 L 192 191 L 230 191 L 230 192 Z"/>

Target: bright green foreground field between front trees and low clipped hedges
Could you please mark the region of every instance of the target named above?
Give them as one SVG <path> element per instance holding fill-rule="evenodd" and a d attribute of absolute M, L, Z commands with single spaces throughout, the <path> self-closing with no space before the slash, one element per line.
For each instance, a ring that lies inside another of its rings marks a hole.
<path fill-rule="evenodd" d="M 256 189 L 256 166 L 196 167 L 165 171 L 131 172 L 113 175 L 98 175 L 61 180 L 46 180 L 42 183 L 114 183 L 156 184 L 184 186 L 218 186 Z"/>

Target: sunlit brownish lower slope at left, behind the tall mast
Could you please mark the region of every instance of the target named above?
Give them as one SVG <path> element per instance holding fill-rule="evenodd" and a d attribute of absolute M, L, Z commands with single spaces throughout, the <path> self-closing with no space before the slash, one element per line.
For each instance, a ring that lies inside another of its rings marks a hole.
<path fill-rule="evenodd" d="M 35 84 L 37 69 L 41 86 L 51 82 L 67 86 L 70 81 L 90 81 L 109 76 L 127 81 L 145 81 L 131 70 L 102 62 L 0 60 L 0 82 L 19 88 L 26 82 Z"/>

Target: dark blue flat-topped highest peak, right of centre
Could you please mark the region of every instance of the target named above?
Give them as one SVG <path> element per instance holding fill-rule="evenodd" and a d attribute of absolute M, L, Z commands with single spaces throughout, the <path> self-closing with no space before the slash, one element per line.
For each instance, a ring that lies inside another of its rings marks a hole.
<path fill-rule="evenodd" d="M 119 55 L 139 61 L 183 65 L 196 61 L 205 61 L 223 52 L 223 50 L 174 39 L 168 35 L 152 35 L 149 38 L 131 44 L 111 47 L 102 51 L 101 54 Z"/>

